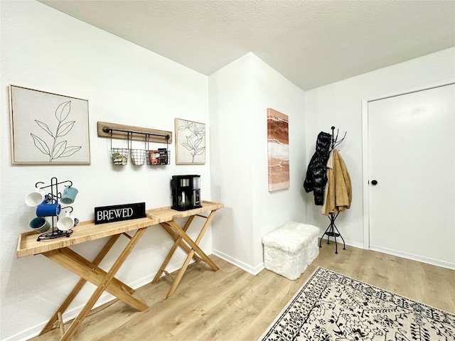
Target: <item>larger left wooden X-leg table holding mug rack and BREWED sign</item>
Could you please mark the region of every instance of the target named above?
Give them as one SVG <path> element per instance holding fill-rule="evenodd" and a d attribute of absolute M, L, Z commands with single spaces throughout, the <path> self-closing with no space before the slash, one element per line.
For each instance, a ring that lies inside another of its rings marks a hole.
<path fill-rule="evenodd" d="M 146 231 L 146 228 L 154 224 L 158 224 L 158 221 L 149 217 L 96 226 L 93 222 L 82 222 L 74 229 L 74 232 L 70 237 L 51 239 L 45 242 L 38 242 L 36 240 L 37 234 L 35 234 L 35 232 L 21 234 L 18 241 L 18 257 L 31 254 L 43 254 L 43 256 L 48 257 L 48 259 L 55 261 L 55 263 L 60 264 L 60 266 L 63 266 L 80 276 L 80 281 L 76 284 L 75 288 L 73 288 L 73 291 L 71 291 L 65 301 L 63 301 L 52 318 L 50 318 L 40 335 L 53 329 L 55 324 L 58 323 L 61 335 L 60 341 L 70 340 L 104 291 L 111 293 L 139 311 L 148 308 L 147 305 L 132 296 L 134 289 L 130 288 L 122 281 L 119 281 L 114 276 L 117 274 L 117 271 L 127 259 L 132 249 L 134 249 L 137 242 L 139 242 L 139 239 Z M 137 230 L 134 232 L 133 236 L 127 233 L 133 233 L 133 230 Z M 117 260 L 114 261 L 114 264 L 112 264 L 109 271 L 104 271 L 99 267 L 99 264 L 115 242 L 117 242 L 117 239 L 122 235 L 127 237 L 129 242 L 119 256 L 117 256 Z M 93 261 L 85 259 L 69 248 L 70 245 L 80 244 L 102 237 L 109 237 L 109 239 L 107 240 L 105 247 L 102 248 Z M 80 313 L 73 320 L 73 323 L 71 323 L 68 330 L 65 331 L 63 328 L 62 315 L 87 281 L 95 284 L 97 288 L 95 289 L 95 292 L 92 293 L 92 296 L 87 301 L 84 308 L 82 308 Z"/>

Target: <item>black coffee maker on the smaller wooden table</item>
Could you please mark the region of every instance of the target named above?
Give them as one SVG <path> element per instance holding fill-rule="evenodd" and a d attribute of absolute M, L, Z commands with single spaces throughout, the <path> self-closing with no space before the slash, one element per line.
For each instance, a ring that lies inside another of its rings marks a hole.
<path fill-rule="evenodd" d="M 171 180 L 172 209 L 192 210 L 200 205 L 200 175 L 173 175 Z"/>

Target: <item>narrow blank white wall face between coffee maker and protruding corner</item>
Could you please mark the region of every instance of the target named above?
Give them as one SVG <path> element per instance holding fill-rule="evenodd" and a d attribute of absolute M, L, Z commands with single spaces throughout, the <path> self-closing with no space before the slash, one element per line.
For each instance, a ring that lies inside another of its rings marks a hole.
<path fill-rule="evenodd" d="M 225 207 L 213 222 L 215 254 L 250 269 L 253 264 L 253 185 L 250 55 L 209 76 L 213 199 Z"/>

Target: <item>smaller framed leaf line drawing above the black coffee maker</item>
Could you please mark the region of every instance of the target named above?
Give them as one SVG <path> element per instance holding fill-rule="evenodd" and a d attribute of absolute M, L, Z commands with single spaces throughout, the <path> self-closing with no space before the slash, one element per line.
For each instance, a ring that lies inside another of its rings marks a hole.
<path fill-rule="evenodd" d="M 176 164 L 205 164 L 205 124 L 175 119 Z"/>

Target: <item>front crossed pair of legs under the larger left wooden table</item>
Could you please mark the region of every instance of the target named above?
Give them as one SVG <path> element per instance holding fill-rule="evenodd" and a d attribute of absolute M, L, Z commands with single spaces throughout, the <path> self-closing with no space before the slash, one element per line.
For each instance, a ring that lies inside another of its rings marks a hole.
<path fill-rule="evenodd" d="M 75 274 L 85 275 L 84 276 L 85 279 L 97 285 L 95 292 L 92 294 L 89 301 L 87 301 L 84 308 L 82 308 L 79 315 L 77 315 L 77 317 L 73 320 L 73 323 L 71 323 L 70 327 L 68 328 L 68 330 L 66 330 L 65 335 L 63 335 L 60 341 L 68 341 L 70 340 L 71 337 L 73 337 L 77 328 L 79 328 L 80 324 L 82 323 L 82 320 L 84 320 L 87 314 L 90 313 L 90 310 L 92 309 L 93 305 L 95 305 L 95 303 L 98 301 L 98 298 L 100 298 L 103 291 L 108 291 L 111 293 L 115 292 L 114 293 L 115 296 L 122 299 L 122 301 L 126 301 L 128 304 L 132 304 L 134 308 L 137 308 L 139 311 L 148 308 L 144 303 L 141 303 L 136 298 L 133 298 L 131 294 L 122 291 L 121 285 L 124 283 L 118 280 L 116 281 L 116 283 L 114 283 L 115 281 L 114 275 L 117 273 L 120 266 L 122 266 L 125 259 L 127 259 L 127 256 L 131 253 L 132 249 L 137 244 L 137 242 L 139 242 L 139 239 L 142 237 L 145 231 L 146 227 L 137 230 L 137 232 L 134 234 L 134 237 L 130 239 L 127 246 L 118 256 L 117 260 L 114 262 L 111 269 L 107 273 L 104 273 L 102 269 L 96 266 L 95 269 L 90 268 L 90 264 L 92 264 L 91 262 L 83 259 L 82 256 L 75 254 L 74 251 L 68 251 L 70 250 L 68 248 L 48 251 L 44 253 L 45 256 L 48 256 L 53 261 L 56 261 L 58 264 L 65 266 L 65 268 L 70 269 Z M 99 281 L 100 278 L 102 278 L 101 281 Z"/>

